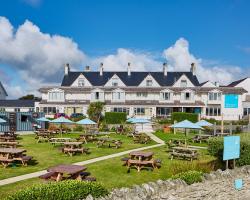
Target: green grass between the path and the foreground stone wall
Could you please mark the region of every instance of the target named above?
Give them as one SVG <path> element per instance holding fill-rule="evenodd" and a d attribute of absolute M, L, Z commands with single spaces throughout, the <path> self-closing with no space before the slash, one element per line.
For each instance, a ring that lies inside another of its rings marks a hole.
<path fill-rule="evenodd" d="M 92 176 L 97 178 L 97 181 L 103 183 L 109 190 L 119 187 L 131 187 L 134 184 L 142 184 L 150 181 L 156 181 L 158 179 L 168 179 L 173 174 L 180 171 L 188 170 L 200 170 L 208 172 L 212 170 L 212 166 L 209 163 L 213 163 L 214 158 L 207 155 L 206 150 L 199 151 L 200 156 L 198 161 L 182 161 L 182 160 L 170 160 L 169 155 L 166 152 L 166 147 L 154 148 L 148 151 L 154 152 L 154 158 L 162 160 L 162 167 L 154 171 L 142 170 L 137 172 L 135 169 L 131 169 L 130 173 L 127 173 L 127 168 L 122 166 L 121 157 L 112 158 L 105 161 L 87 165 L 87 171 L 91 172 Z M 21 188 L 25 188 L 28 185 L 34 183 L 42 183 L 38 178 L 21 181 L 15 184 L 10 184 L 0 187 L 1 197 L 5 197 Z"/>

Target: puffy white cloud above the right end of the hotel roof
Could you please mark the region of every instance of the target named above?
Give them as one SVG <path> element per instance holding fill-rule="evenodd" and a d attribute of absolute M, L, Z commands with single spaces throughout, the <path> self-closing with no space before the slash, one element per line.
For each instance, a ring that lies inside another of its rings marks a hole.
<path fill-rule="evenodd" d="M 164 50 L 163 56 L 168 61 L 170 69 L 174 71 L 188 71 L 190 64 L 194 62 L 200 81 L 210 80 L 228 84 L 240 77 L 242 73 L 238 66 L 224 65 L 214 61 L 209 63 L 201 58 L 196 58 L 189 52 L 189 43 L 184 38 L 178 39 L 173 46 Z"/>

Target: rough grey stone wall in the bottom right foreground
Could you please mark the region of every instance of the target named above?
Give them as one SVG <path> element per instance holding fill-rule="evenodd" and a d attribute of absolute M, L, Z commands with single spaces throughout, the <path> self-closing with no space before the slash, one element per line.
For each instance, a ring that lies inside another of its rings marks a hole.
<path fill-rule="evenodd" d="M 250 200 L 250 166 L 217 170 L 205 174 L 201 183 L 187 185 L 182 180 L 158 180 L 132 188 L 113 190 L 98 200 Z M 234 189 L 234 180 L 243 179 L 243 189 Z M 87 200 L 92 200 L 88 196 Z"/>

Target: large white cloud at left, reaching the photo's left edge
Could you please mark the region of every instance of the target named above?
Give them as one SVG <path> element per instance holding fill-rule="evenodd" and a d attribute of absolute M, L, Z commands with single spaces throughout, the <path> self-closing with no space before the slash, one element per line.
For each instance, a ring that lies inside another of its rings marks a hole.
<path fill-rule="evenodd" d="M 72 39 L 42 33 L 28 20 L 14 31 L 9 20 L 0 17 L 0 63 L 14 67 L 28 88 L 58 82 L 65 63 L 79 66 L 84 59 Z"/>

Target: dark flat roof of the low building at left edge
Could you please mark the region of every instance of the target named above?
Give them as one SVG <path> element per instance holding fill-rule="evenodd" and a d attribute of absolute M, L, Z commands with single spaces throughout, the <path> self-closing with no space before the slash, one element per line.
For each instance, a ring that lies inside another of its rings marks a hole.
<path fill-rule="evenodd" d="M 35 101 L 34 100 L 0 100 L 0 107 L 33 108 L 35 107 Z"/>

